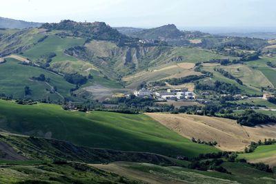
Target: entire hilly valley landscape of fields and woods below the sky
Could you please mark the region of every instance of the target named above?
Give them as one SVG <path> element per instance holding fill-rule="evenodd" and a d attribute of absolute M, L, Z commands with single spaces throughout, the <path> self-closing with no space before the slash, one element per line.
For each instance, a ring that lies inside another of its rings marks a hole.
<path fill-rule="evenodd" d="M 275 68 L 274 39 L 0 18 L 0 183 L 275 183 Z"/>

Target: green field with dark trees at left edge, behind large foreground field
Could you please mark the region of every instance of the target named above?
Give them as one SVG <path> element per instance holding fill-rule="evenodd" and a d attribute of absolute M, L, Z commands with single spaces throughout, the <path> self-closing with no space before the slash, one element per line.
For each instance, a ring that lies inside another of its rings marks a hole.
<path fill-rule="evenodd" d="M 23 65 L 16 59 L 8 58 L 6 63 L 0 64 L 0 93 L 12 95 L 13 98 L 24 98 L 24 87 L 30 86 L 32 90 L 30 98 L 34 100 L 47 99 L 48 97 L 52 100 L 62 99 L 56 93 L 46 91 L 46 89 L 50 89 L 50 86 L 45 82 L 30 80 L 31 77 L 37 77 L 40 74 L 50 77 L 49 84 L 57 86 L 57 91 L 65 97 L 70 95 L 69 89 L 75 87 L 75 85 L 66 82 L 60 75 L 42 68 Z"/>

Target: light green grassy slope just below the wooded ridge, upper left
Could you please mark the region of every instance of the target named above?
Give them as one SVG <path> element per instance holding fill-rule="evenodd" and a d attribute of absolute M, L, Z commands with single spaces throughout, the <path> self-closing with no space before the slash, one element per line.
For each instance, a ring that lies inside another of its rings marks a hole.
<path fill-rule="evenodd" d="M 43 42 L 39 42 L 29 50 L 26 50 L 26 52 L 23 53 L 23 56 L 35 61 L 42 55 L 56 53 L 57 56 L 52 59 L 52 62 L 61 62 L 66 60 L 77 61 L 75 57 L 68 56 L 63 52 L 66 50 L 66 48 L 79 46 L 83 43 L 84 39 L 81 38 L 61 38 L 56 35 L 49 35 Z"/>

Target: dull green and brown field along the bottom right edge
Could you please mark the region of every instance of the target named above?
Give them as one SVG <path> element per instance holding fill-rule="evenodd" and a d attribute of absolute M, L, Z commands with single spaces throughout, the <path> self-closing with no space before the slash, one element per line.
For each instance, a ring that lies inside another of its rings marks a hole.
<path fill-rule="evenodd" d="M 258 171 L 244 163 L 223 163 L 222 166 L 231 174 L 199 171 L 186 167 L 162 167 L 148 163 L 112 163 L 92 166 L 146 183 L 275 183 L 273 174 Z M 251 174 L 254 174 L 254 177 Z"/>

